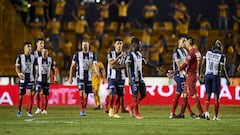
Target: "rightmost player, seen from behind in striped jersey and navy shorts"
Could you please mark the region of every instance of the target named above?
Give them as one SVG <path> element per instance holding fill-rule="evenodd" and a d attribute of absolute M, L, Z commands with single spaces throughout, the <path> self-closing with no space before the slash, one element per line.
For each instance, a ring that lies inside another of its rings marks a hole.
<path fill-rule="evenodd" d="M 210 120 L 210 115 L 208 112 L 210 97 L 214 93 L 215 99 L 215 115 L 213 120 L 219 120 L 219 94 L 220 94 L 220 76 L 223 72 L 225 78 L 227 79 L 227 84 L 230 84 L 229 77 L 226 72 L 225 62 L 226 57 L 222 53 L 222 43 L 220 40 L 216 40 L 213 44 L 212 50 L 207 51 L 206 55 L 203 56 L 202 66 L 201 66 L 201 78 L 205 78 L 206 87 L 206 101 L 205 101 L 205 117 Z M 205 77 L 204 77 L 205 76 Z M 202 80 L 201 80 L 202 81 Z"/>

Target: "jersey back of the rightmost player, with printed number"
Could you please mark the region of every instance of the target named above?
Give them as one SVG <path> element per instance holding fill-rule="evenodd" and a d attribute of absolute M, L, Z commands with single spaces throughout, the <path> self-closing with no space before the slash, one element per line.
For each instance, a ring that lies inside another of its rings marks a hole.
<path fill-rule="evenodd" d="M 206 55 L 203 56 L 203 59 L 206 59 L 206 71 L 205 75 L 220 75 L 221 65 L 225 65 L 226 57 L 224 54 L 214 51 L 207 51 Z"/>

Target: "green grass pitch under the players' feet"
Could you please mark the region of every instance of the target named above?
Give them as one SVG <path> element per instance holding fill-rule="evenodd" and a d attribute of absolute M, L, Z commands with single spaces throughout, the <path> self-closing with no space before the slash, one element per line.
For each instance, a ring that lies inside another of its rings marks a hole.
<path fill-rule="evenodd" d="M 213 115 L 213 106 L 210 107 Z M 25 109 L 25 108 L 23 108 Z M 194 112 L 196 108 L 193 107 Z M 34 108 L 35 111 L 35 108 Z M 0 106 L 0 135 L 229 135 L 240 134 L 240 106 L 221 106 L 220 121 L 169 119 L 170 106 L 140 106 L 138 120 L 128 113 L 109 118 L 103 110 L 88 107 L 79 116 L 78 106 L 50 106 L 48 115 L 16 117 L 16 106 Z"/>

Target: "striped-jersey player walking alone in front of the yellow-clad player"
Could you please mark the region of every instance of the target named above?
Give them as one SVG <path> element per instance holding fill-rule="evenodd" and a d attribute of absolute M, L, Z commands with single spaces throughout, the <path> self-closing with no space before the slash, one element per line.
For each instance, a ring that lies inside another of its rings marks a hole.
<path fill-rule="evenodd" d="M 80 96 L 80 116 L 86 116 L 88 94 L 92 93 L 92 65 L 97 67 L 97 57 L 89 50 L 89 41 L 82 41 L 82 50 L 77 51 L 72 59 L 69 71 L 69 83 L 72 84 L 72 74 L 76 69 L 77 85 Z M 98 69 L 95 68 L 96 76 L 99 76 Z"/>

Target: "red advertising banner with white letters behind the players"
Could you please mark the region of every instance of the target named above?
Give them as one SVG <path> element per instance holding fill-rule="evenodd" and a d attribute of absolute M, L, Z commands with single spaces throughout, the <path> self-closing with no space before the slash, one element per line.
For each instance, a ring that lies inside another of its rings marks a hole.
<path fill-rule="evenodd" d="M 107 84 L 101 85 L 100 96 L 104 104 L 107 93 Z M 175 93 L 173 85 L 148 85 L 147 96 L 141 102 L 142 105 L 171 105 Z M 205 87 L 197 86 L 201 103 L 205 100 Z M 19 92 L 18 85 L 0 86 L 0 105 L 17 105 Z M 220 102 L 222 105 L 240 105 L 240 86 L 223 86 L 220 93 Z M 213 98 L 213 95 L 212 95 Z M 125 104 L 131 103 L 131 91 L 129 86 L 125 86 Z M 23 103 L 26 104 L 27 96 Z M 193 100 L 190 98 L 190 102 Z M 49 105 L 79 105 L 79 93 L 76 86 L 51 85 L 48 100 Z M 211 103 L 214 101 L 212 99 Z M 93 94 L 89 95 L 89 105 L 94 104 Z"/>

